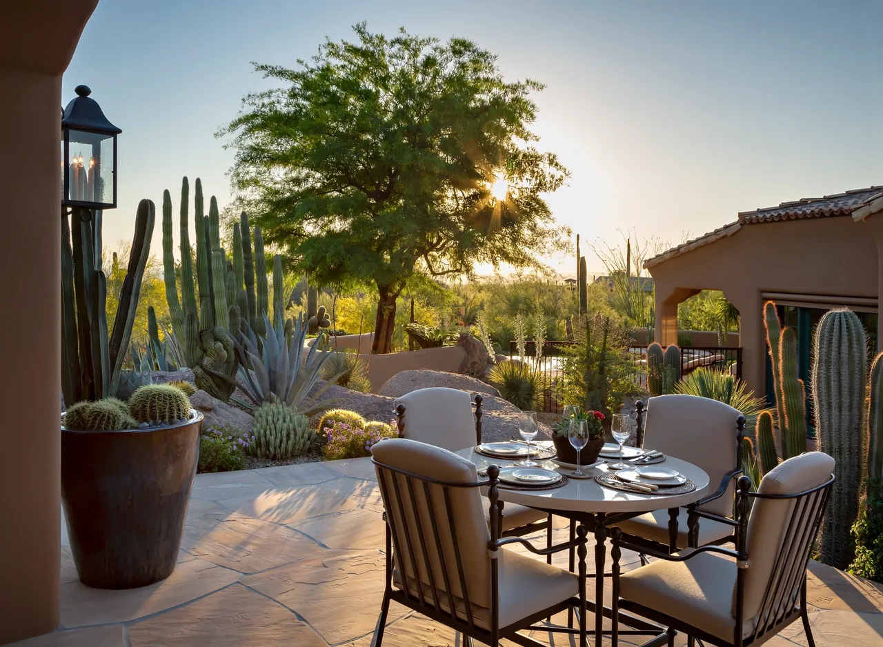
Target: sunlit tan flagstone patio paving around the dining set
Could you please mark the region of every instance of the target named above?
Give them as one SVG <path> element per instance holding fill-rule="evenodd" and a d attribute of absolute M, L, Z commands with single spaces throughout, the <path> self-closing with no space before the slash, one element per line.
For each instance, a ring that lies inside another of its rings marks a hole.
<path fill-rule="evenodd" d="M 381 509 L 369 459 L 201 474 L 168 580 L 133 591 L 90 589 L 62 545 L 62 627 L 15 644 L 368 647 L 383 591 Z M 559 522 L 564 539 L 566 522 Z M 637 568 L 636 555 L 625 561 Z M 816 644 L 883 645 L 883 585 L 815 562 L 810 570 Z M 547 633 L 533 636 L 549 642 Z M 559 636 L 552 644 L 566 642 Z M 456 644 L 448 628 L 390 609 L 386 647 Z M 796 622 L 766 644 L 807 642 Z"/>

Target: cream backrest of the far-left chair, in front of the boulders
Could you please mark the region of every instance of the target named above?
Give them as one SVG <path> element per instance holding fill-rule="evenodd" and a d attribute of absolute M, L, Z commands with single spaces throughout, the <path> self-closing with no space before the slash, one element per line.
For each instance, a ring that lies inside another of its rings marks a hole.
<path fill-rule="evenodd" d="M 472 397 L 457 388 L 429 387 L 396 398 L 404 404 L 402 437 L 457 452 L 475 445 Z"/>

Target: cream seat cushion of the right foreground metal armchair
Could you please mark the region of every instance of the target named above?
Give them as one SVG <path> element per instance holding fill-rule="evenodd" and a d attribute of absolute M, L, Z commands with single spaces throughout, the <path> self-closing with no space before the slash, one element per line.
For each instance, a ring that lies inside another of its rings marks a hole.
<path fill-rule="evenodd" d="M 735 588 L 736 561 L 699 553 L 686 561 L 655 560 L 624 573 L 619 594 L 731 643 L 736 626 L 730 610 Z M 752 627 L 746 621 L 743 635 L 750 634 Z"/>

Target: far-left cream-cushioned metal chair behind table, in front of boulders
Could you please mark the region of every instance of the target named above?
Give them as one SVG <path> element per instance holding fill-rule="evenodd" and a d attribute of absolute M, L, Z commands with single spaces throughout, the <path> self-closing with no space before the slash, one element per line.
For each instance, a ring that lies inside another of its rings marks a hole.
<path fill-rule="evenodd" d="M 398 433 L 402 438 L 457 452 L 481 444 L 480 394 L 475 403 L 466 391 L 457 388 L 429 387 L 396 398 Z M 475 415 L 472 415 L 472 407 Z M 502 501 L 500 502 L 502 509 Z M 487 523 L 490 523 L 489 507 Z M 502 515 L 502 534 L 524 537 L 539 530 L 547 531 L 546 546 L 552 545 L 552 515 L 540 510 L 509 503 Z M 551 557 L 548 560 L 551 563 Z"/>

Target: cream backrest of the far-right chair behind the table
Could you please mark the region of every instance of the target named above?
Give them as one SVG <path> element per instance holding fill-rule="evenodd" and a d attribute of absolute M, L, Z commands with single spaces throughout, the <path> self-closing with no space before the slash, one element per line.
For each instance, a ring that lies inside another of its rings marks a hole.
<path fill-rule="evenodd" d="M 644 447 L 675 456 L 706 471 L 710 492 L 736 469 L 736 418 L 742 414 L 724 402 L 698 395 L 657 395 L 647 401 Z M 733 514 L 735 479 L 727 493 L 702 509 Z M 700 522 L 701 523 L 701 522 Z"/>

